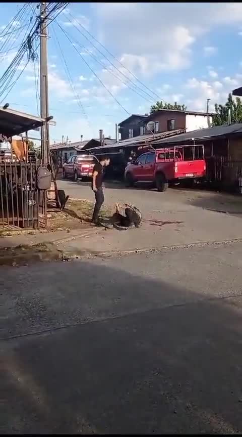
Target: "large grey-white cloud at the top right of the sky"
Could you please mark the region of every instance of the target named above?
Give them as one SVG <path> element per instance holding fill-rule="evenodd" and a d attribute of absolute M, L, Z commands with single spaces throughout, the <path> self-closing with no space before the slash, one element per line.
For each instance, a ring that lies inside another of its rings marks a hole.
<path fill-rule="evenodd" d="M 237 6 L 238 5 L 238 6 Z M 119 59 L 136 74 L 188 68 L 194 43 L 224 24 L 242 21 L 240 4 L 233 3 L 94 3 L 97 32 L 104 46 L 115 47 Z M 147 26 L 147 17 L 151 23 Z M 204 44 L 205 56 L 217 48 Z"/>

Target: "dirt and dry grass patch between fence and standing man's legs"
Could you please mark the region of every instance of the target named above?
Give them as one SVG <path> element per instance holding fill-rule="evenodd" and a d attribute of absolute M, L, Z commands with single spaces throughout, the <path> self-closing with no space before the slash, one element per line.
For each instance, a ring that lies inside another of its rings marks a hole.
<path fill-rule="evenodd" d="M 86 229 L 91 226 L 94 204 L 85 199 L 69 199 L 63 211 L 50 209 L 48 211 L 48 231 L 70 231 L 71 229 Z M 103 206 L 101 217 L 111 214 L 110 208 Z"/>

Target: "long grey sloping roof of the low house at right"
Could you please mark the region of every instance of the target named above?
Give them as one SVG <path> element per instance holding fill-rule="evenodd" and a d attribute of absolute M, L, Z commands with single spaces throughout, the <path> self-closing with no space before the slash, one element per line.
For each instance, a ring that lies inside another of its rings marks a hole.
<path fill-rule="evenodd" d="M 177 137 L 167 138 L 160 140 L 160 144 L 164 143 L 181 143 L 184 141 L 193 141 L 194 140 L 209 140 L 210 138 L 215 137 L 224 137 L 231 134 L 242 135 L 242 123 L 235 123 L 230 125 L 222 125 L 222 126 L 214 126 L 208 127 L 206 129 L 198 129 L 192 130 L 191 132 L 187 132 L 186 134 L 180 134 Z M 158 143 L 158 141 L 156 141 Z"/>

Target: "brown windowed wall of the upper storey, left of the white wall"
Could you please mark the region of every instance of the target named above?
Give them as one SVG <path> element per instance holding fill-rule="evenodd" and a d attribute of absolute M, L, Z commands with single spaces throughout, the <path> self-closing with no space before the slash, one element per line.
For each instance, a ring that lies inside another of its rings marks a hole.
<path fill-rule="evenodd" d="M 168 120 L 175 120 L 175 128 L 176 129 L 185 129 L 186 127 L 186 114 L 183 112 L 174 112 L 174 111 L 165 111 L 165 112 L 157 112 L 152 114 L 152 117 L 149 118 L 149 120 L 152 120 L 154 122 L 159 123 L 159 128 L 155 132 L 155 134 L 159 132 L 166 132 L 168 129 L 167 123 Z M 145 126 L 145 134 L 150 134 L 150 132 L 146 129 L 147 121 L 145 120 L 140 125 Z M 139 135 L 140 135 L 140 128 L 139 128 Z"/>

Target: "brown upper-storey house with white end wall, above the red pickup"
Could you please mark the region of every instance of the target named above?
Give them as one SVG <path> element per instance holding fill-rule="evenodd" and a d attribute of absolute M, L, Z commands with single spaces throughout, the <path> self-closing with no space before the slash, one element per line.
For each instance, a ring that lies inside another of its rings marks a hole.
<path fill-rule="evenodd" d="M 206 112 L 181 111 L 176 109 L 160 109 L 140 122 L 139 135 L 148 134 L 147 123 L 154 121 L 154 133 L 168 130 L 186 129 L 186 132 L 204 129 L 211 125 L 212 114 Z"/>

